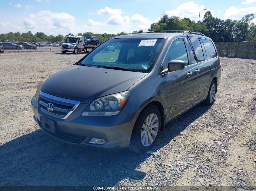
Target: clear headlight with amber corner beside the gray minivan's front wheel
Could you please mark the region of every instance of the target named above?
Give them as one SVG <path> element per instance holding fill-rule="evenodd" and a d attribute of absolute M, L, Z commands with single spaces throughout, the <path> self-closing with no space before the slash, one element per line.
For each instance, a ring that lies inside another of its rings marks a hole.
<path fill-rule="evenodd" d="M 82 116 L 110 116 L 120 113 L 130 96 L 129 91 L 104 96 L 94 100 Z"/>

